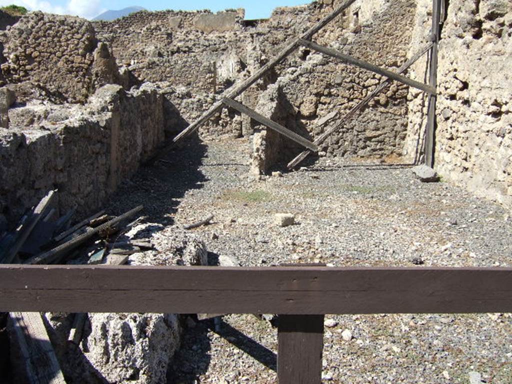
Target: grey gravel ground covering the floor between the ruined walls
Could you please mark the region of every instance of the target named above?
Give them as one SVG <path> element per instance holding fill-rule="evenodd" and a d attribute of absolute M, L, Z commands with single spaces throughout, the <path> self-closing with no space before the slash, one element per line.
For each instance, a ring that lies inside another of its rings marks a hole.
<path fill-rule="evenodd" d="M 461 188 L 420 183 L 408 165 L 326 158 L 254 180 L 248 148 L 245 140 L 187 142 L 126 182 L 111 210 L 144 204 L 148 221 L 159 224 L 157 242 L 169 226 L 213 214 L 211 225 L 189 232 L 206 243 L 210 259 L 223 255 L 242 266 L 511 266 L 509 212 Z M 296 225 L 274 225 L 279 212 L 294 214 Z M 326 383 L 512 382 L 510 314 L 326 321 Z M 254 315 L 224 316 L 217 331 L 212 321 L 189 323 L 169 382 L 276 381 L 270 323 Z"/>

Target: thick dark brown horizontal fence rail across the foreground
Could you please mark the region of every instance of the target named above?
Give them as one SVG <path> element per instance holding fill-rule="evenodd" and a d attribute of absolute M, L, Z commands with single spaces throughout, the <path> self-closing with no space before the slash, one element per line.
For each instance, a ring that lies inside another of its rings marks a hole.
<path fill-rule="evenodd" d="M 2 265 L 0 311 L 512 312 L 512 268 Z"/>

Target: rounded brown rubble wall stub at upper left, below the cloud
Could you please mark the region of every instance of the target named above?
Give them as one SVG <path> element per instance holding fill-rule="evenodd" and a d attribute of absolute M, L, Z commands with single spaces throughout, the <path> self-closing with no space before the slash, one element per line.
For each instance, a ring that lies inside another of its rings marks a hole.
<path fill-rule="evenodd" d="M 15 84 L 21 101 L 83 103 L 105 83 L 122 83 L 108 47 L 82 18 L 30 12 L 0 33 L 0 44 L 0 83 Z"/>

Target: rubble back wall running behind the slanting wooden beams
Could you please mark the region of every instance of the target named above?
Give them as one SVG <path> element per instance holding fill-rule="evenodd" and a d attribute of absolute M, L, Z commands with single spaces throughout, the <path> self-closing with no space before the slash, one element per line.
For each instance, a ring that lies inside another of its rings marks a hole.
<path fill-rule="evenodd" d="M 276 9 L 270 19 L 247 23 L 241 12 L 138 12 L 114 22 L 94 23 L 98 38 L 141 80 L 161 82 L 166 98 L 183 116 L 179 131 L 197 119 L 234 82 L 246 78 L 272 58 L 289 39 L 325 17 L 339 2 L 312 2 Z M 315 36 L 320 44 L 342 50 L 389 69 L 407 59 L 414 26 L 414 0 L 358 1 Z M 231 16 L 227 16 L 231 15 Z M 205 17 L 231 20 L 200 28 Z M 223 29 L 226 25 L 229 28 Z M 313 139 L 328 113 L 343 115 L 376 87 L 380 76 L 300 49 L 243 95 L 255 108 L 269 84 L 279 82 L 294 111 L 289 128 Z M 326 143 L 333 156 L 401 154 L 407 131 L 408 88 L 396 84 Z M 201 129 L 204 136 L 250 135 L 251 121 L 224 109 Z M 179 128 L 179 129 L 178 129 Z M 289 160 L 289 159 L 288 159 Z"/>

